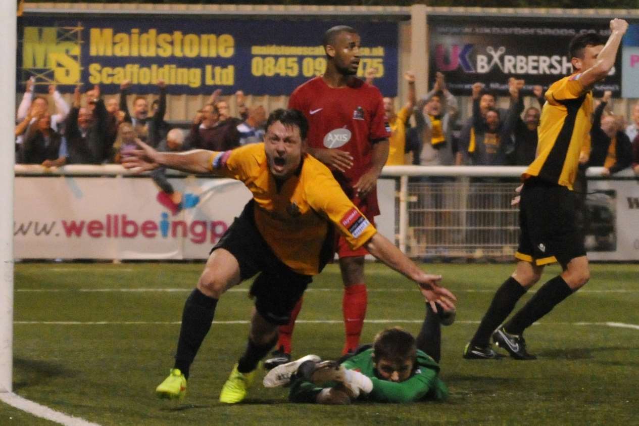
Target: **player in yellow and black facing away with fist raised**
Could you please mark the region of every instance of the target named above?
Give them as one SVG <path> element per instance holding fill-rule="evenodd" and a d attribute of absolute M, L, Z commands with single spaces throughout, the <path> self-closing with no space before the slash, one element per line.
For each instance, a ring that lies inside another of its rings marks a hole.
<path fill-rule="evenodd" d="M 583 233 L 577 226 L 573 184 L 582 147 L 589 140 L 592 88 L 612 70 L 628 24 L 610 21 L 610 37 L 595 33 L 574 36 L 569 55 L 574 72 L 546 91 L 539 122 L 537 156 L 523 173 L 520 241 L 515 271 L 498 288 L 475 335 L 464 349 L 467 359 L 498 358 L 493 342 L 515 359 L 535 359 L 528 353 L 523 331 L 590 278 Z M 502 324 L 528 288 L 541 278 L 544 266 L 559 262 L 563 271 L 544 283 L 528 303 Z"/>

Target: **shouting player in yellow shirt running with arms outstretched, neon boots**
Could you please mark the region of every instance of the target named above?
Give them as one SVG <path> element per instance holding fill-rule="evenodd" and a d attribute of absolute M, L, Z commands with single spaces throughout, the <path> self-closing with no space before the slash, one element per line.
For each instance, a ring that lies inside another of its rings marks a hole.
<path fill-rule="evenodd" d="M 343 193 L 327 166 L 305 154 L 308 124 L 292 109 L 278 109 L 266 123 L 264 143 L 233 151 L 193 150 L 157 152 L 139 143 L 123 161 L 135 172 L 166 166 L 189 173 L 213 173 L 235 178 L 253 194 L 242 214 L 213 247 L 197 287 L 187 299 L 174 368 L 157 387 L 165 398 L 182 398 L 189 367 L 208 333 L 217 302 L 229 288 L 259 273 L 250 294 L 254 297 L 249 342 L 224 384 L 220 401 L 240 402 L 254 380 L 258 362 L 277 340 L 277 326 L 286 324 L 296 301 L 334 250 L 333 230 L 352 248 L 368 251 L 415 281 L 432 306 L 447 298 L 441 276 L 427 274 L 378 233 Z"/>

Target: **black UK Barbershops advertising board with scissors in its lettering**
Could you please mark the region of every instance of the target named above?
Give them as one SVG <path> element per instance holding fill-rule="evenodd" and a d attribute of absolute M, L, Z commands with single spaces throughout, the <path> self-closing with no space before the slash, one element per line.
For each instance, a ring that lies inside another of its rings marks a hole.
<path fill-rule="evenodd" d="M 509 77 L 523 79 L 525 89 L 537 84 L 548 88 L 571 74 L 568 44 L 581 33 L 598 33 L 604 40 L 610 35 L 606 20 L 543 22 L 536 20 L 451 20 L 429 17 L 431 86 L 435 73 L 446 76 L 449 90 L 470 95 L 477 81 L 502 95 L 507 93 Z M 605 81 L 594 91 L 601 95 L 611 90 L 621 95 L 621 55 Z"/>

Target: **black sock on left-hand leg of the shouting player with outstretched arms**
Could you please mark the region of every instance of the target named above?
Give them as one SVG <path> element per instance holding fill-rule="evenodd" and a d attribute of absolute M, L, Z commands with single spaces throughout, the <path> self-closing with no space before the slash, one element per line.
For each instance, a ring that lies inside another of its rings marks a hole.
<path fill-rule="evenodd" d="M 184 304 L 174 368 L 180 368 L 187 379 L 197 350 L 211 328 L 215 306 L 217 306 L 217 299 L 206 296 L 197 288 L 191 292 Z"/>

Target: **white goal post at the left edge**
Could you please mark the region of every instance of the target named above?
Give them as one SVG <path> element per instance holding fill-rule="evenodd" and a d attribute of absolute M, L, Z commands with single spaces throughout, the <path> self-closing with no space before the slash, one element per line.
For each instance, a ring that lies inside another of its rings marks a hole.
<path fill-rule="evenodd" d="M 17 1 L 0 2 L 0 393 L 13 391 L 13 162 L 15 139 L 15 52 Z"/>

